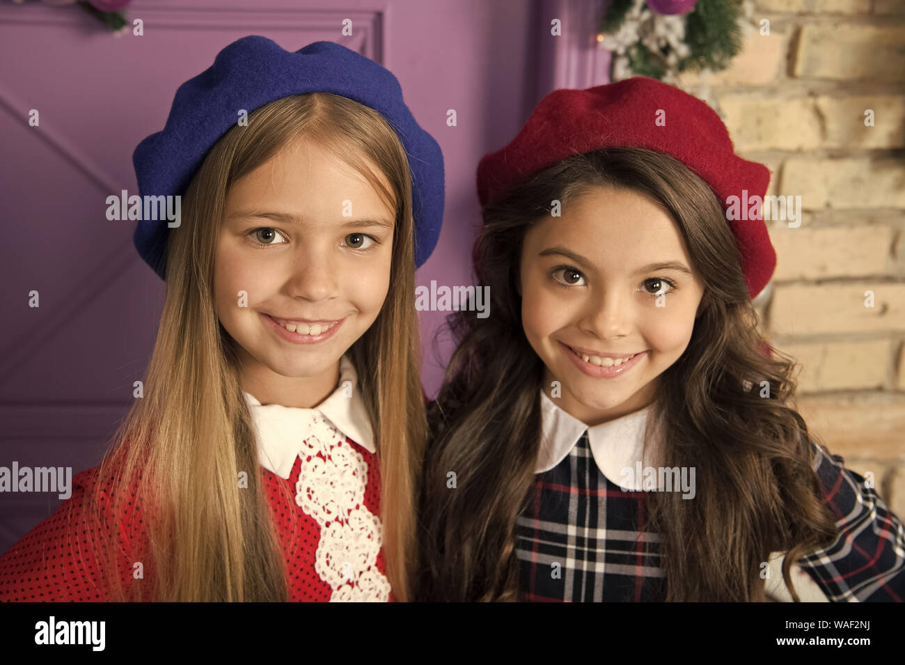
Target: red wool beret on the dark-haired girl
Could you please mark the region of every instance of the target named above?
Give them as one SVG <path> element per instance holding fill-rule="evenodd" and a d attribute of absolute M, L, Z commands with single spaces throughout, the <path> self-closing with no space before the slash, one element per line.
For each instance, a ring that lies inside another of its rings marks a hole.
<path fill-rule="evenodd" d="M 639 76 L 587 90 L 554 90 L 540 100 L 518 136 L 481 159 L 481 205 L 498 201 L 545 166 L 604 147 L 644 147 L 675 157 L 710 185 L 724 210 L 732 195 L 747 209 L 743 190 L 748 201 L 767 194 L 769 169 L 735 154 L 713 109 L 678 88 Z M 728 223 L 753 299 L 776 268 L 776 252 L 763 219 Z"/>

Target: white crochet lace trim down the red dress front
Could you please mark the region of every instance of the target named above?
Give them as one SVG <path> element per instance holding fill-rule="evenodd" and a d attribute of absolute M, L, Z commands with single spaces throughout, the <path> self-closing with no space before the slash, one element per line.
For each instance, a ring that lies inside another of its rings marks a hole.
<path fill-rule="evenodd" d="M 333 589 L 330 602 L 386 603 L 390 584 L 377 569 L 383 525 L 365 506 L 367 462 L 320 413 L 299 457 L 295 502 L 320 526 L 314 569 Z"/>

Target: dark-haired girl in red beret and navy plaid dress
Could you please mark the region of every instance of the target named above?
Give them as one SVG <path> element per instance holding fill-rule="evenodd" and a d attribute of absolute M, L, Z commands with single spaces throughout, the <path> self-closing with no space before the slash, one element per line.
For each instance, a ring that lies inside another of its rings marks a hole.
<path fill-rule="evenodd" d="M 641 78 L 551 93 L 484 157 L 492 314 L 450 319 L 421 599 L 905 599 L 905 528 L 814 442 L 758 328 L 768 180 Z"/>

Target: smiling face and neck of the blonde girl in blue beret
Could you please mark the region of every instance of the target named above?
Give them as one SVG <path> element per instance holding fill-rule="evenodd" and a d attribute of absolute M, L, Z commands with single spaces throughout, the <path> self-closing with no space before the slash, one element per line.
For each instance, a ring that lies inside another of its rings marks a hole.
<path fill-rule="evenodd" d="M 394 226 L 365 176 L 304 139 L 230 188 L 214 298 L 240 347 L 244 390 L 262 404 L 313 406 L 335 388 L 339 357 L 386 299 Z"/>

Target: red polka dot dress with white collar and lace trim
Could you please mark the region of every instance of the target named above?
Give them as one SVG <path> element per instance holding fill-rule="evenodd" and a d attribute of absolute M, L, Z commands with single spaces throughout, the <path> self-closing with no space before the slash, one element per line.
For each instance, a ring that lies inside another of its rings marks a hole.
<path fill-rule="evenodd" d="M 262 405 L 244 394 L 258 436 L 262 487 L 285 555 L 291 601 L 392 601 L 373 434 L 346 356 L 339 371 L 337 390 L 313 409 Z M 134 562 L 145 558 L 138 552 L 147 544 L 140 504 L 129 500 L 117 516 L 101 508 L 100 522 L 89 518 L 85 499 L 96 481 L 97 468 L 77 474 L 71 498 L 0 556 L 0 601 L 108 600 L 96 560 L 104 543 L 115 547 L 125 588 L 135 584 Z M 110 505 L 108 490 L 100 495 L 102 506 Z M 287 504 L 284 493 L 294 501 Z M 142 584 L 148 584 L 153 566 L 143 565 Z"/>

